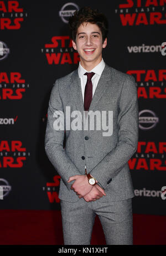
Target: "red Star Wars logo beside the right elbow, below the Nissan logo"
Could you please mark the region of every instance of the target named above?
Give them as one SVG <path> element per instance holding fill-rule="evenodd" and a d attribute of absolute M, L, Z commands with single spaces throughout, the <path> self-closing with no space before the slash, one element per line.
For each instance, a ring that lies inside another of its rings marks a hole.
<path fill-rule="evenodd" d="M 166 171 L 166 142 L 139 141 L 135 157 L 128 161 L 130 170 Z"/>

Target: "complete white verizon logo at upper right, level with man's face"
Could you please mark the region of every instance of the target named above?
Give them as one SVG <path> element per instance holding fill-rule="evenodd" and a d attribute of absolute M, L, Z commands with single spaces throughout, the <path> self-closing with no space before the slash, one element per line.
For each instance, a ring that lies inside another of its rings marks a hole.
<path fill-rule="evenodd" d="M 134 45 L 128 46 L 129 53 L 158 53 L 162 52 L 162 45 Z"/>

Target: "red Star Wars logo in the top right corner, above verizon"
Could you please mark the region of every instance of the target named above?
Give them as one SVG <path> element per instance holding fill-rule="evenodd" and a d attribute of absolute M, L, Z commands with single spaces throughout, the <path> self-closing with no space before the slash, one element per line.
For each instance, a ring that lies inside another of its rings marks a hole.
<path fill-rule="evenodd" d="M 115 13 L 120 15 L 123 26 L 166 24 L 165 3 L 166 0 L 125 0 Z"/>

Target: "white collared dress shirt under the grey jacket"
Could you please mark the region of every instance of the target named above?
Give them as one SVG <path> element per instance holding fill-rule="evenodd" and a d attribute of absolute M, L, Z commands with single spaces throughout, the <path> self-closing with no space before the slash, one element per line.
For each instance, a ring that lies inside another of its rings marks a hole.
<path fill-rule="evenodd" d="M 83 99 L 83 103 L 84 103 L 84 91 L 85 91 L 85 85 L 86 85 L 86 81 L 87 81 L 87 75 L 84 75 L 86 72 L 90 73 L 90 72 L 94 72 L 95 75 L 92 76 L 92 98 L 95 94 L 95 90 L 98 84 L 98 81 L 100 79 L 100 76 L 102 74 L 103 69 L 105 68 L 105 62 L 103 61 L 103 59 L 101 60 L 101 62 L 95 66 L 95 68 L 93 68 L 91 71 L 87 71 L 86 69 L 83 68 L 83 66 L 81 66 L 81 63 L 79 63 L 79 68 L 78 68 L 78 73 L 79 73 L 79 78 L 81 80 L 81 90 L 82 90 L 82 99 Z M 85 165 L 86 168 L 86 165 Z"/>

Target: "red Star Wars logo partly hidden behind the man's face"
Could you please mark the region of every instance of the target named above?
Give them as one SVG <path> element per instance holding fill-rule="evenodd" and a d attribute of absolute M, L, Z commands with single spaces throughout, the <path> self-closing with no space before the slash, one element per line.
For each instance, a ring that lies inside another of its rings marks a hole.
<path fill-rule="evenodd" d="M 45 44 L 45 48 L 41 49 L 49 65 L 77 64 L 80 62 L 79 54 L 72 48 L 69 35 L 52 37 L 51 42 L 51 44 Z"/>

